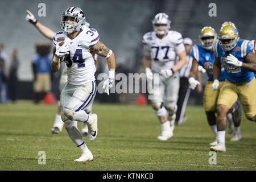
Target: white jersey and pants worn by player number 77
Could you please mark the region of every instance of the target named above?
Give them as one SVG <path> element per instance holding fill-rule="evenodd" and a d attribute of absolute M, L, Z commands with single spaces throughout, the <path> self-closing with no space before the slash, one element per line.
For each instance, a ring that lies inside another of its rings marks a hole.
<path fill-rule="evenodd" d="M 171 69 L 177 63 L 177 54 L 184 51 L 183 38 L 179 32 L 168 31 L 167 36 L 159 39 L 156 32 L 148 32 L 143 36 L 144 55 L 151 57 L 151 69 L 153 73 L 159 73 L 162 69 Z M 167 109 L 175 110 L 179 92 L 179 72 L 169 78 L 159 75 L 159 90 L 154 90 L 153 105 L 162 103 Z"/>

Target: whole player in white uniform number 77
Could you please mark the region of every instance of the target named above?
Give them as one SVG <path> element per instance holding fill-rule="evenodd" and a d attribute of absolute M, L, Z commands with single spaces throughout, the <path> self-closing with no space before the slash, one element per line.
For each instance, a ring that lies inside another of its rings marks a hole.
<path fill-rule="evenodd" d="M 161 123 L 159 140 L 172 137 L 175 124 L 175 107 L 179 93 L 179 70 L 187 63 L 182 35 L 169 30 L 171 21 L 167 14 L 159 13 L 152 20 L 154 31 L 147 32 L 144 44 L 143 64 L 148 81 L 159 73 L 159 89 L 151 100 L 155 114 Z M 176 62 L 177 56 L 179 61 Z"/>

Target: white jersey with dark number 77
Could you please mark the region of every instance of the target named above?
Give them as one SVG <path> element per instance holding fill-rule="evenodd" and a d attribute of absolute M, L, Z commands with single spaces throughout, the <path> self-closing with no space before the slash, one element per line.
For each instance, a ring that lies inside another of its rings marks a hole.
<path fill-rule="evenodd" d="M 159 39 L 156 32 L 147 32 L 142 39 L 144 55 L 151 57 L 151 69 L 157 73 L 161 69 L 171 69 L 176 64 L 177 54 L 184 51 L 182 35 L 168 31 L 167 36 Z"/>

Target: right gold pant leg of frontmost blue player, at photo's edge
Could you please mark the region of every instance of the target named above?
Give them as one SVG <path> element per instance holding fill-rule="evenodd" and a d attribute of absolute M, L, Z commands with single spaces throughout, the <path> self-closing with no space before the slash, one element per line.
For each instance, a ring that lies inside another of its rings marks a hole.
<path fill-rule="evenodd" d="M 256 80 L 237 85 L 238 96 L 243 106 L 246 118 L 252 118 L 256 114 Z"/>

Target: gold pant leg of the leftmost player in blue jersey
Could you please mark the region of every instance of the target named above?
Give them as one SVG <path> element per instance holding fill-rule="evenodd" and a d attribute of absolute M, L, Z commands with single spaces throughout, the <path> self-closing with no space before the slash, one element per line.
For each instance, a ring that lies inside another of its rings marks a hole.
<path fill-rule="evenodd" d="M 203 96 L 203 105 L 205 111 L 216 111 L 218 94 L 220 93 L 220 89 L 213 91 L 212 90 L 213 81 L 207 81 L 204 89 Z M 224 82 L 220 82 L 219 88 L 222 88 Z"/>

